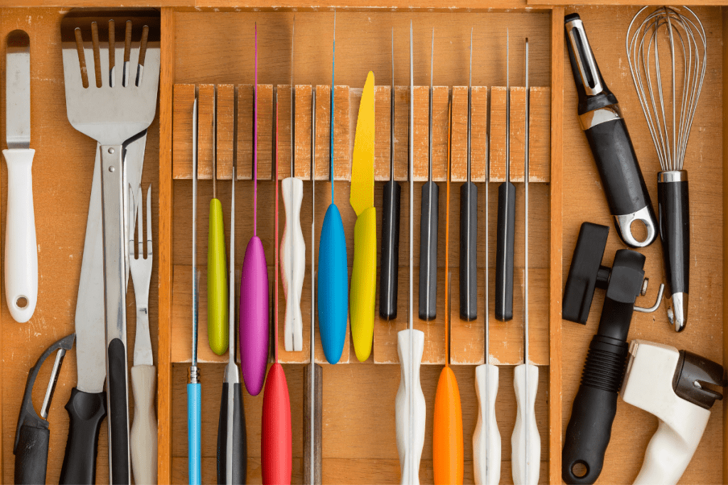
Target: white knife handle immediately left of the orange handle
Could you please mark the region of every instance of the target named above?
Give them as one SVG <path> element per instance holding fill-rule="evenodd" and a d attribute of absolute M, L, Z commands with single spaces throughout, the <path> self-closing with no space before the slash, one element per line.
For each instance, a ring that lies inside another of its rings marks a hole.
<path fill-rule="evenodd" d="M 412 334 L 411 348 L 410 333 Z M 400 484 L 402 485 L 419 485 L 419 461 L 422 459 L 424 421 L 427 414 L 422 385 L 419 381 L 419 366 L 422 364 L 423 352 L 424 332 L 420 330 L 397 332 L 397 354 L 400 356 L 402 374 L 400 388 L 397 390 L 395 400 L 395 422 L 397 426 L 397 452 L 400 455 L 400 468 L 402 471 Z M 414 365 L 410 368 L 411 362 Z M 413 409 L 410 409 L 411 393 L 414 404 Z M 410 431 L 413 446 L 410 446 Z"/>

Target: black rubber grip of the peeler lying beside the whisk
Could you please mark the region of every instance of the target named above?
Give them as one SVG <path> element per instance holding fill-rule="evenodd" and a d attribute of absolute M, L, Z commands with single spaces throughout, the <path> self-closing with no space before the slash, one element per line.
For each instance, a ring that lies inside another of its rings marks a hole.
<path fill-rule="evenodd" d="M 642 177 L 635 149 L 624 119 L 614 119 L 585 130 L 604 195 L 612 215 L 626 215 L 649 207 L 652 201 Z"/>

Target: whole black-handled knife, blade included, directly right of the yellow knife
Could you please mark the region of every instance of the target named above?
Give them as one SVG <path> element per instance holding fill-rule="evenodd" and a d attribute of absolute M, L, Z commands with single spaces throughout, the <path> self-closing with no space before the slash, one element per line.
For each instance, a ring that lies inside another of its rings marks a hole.
<path fill-rule="evenodd" d="M 379 316 L 397 318 L 397 286 L 400 275 L 400 199 L 395 181 L 395 29 L 392 28 L 392 87 L 389 92 L 389 181 L 381 201 L 381 260 L 379 262 Z"/>

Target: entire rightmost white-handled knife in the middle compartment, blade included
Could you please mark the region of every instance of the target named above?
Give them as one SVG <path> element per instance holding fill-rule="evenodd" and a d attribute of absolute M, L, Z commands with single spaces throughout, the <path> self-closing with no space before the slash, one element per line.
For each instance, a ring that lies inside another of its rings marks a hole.
<path fill-rule="evenodd" d="M 523 144 L 523 364 L 513 369 L 517 409 L 510 438 L 510 461 L 515 485 L 537 485 L 541 466 L 541 436 L 536 426 L 536 391 L 539 368 L 529 363 L 529 39 L 526 38 L 526 124 Z"/>

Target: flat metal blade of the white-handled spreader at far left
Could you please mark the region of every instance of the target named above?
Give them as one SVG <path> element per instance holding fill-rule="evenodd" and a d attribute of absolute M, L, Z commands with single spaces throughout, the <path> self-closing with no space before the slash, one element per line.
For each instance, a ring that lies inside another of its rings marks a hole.
<path fill-rule="evenodd" d="M 31 39 L 24 31 L 7 36 L 5 67 L 7 148 L 31 148 Z"/>

